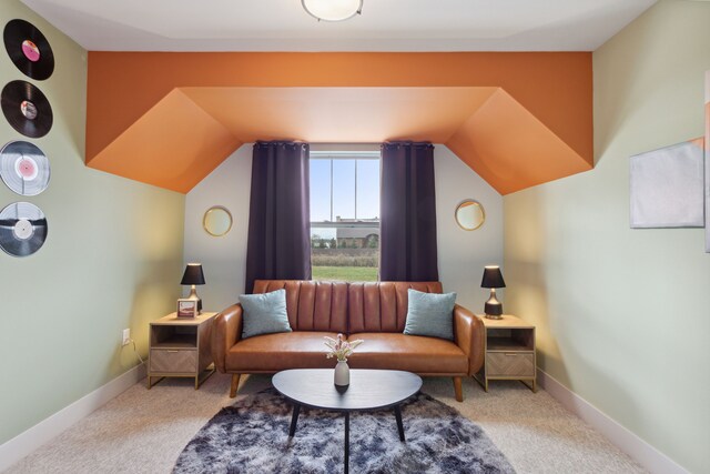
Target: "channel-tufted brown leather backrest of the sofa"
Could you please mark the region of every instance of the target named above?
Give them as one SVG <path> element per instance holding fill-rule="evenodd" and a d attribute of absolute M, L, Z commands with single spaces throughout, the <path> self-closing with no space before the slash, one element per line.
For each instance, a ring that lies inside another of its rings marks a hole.
<path fill-rule="evenodd" d="M 440 282 L 315 282 L 256 280 L 254 293 L 286 290 L 294 331 L 403 332 L 407 290 L 442 293 Z"/>

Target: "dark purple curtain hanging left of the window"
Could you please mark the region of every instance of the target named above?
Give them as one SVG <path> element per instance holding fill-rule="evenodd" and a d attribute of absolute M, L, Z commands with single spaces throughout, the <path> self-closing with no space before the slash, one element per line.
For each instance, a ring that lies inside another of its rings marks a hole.
<path fill-rule="evenodd" d="M 308 144 L 256 142 L 246 244 L 246 293 L 254 280 L 311 280 Z"/>

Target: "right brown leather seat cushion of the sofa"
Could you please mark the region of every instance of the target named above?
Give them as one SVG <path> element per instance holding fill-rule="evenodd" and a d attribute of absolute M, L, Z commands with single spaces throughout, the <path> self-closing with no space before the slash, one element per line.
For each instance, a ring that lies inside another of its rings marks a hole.
<path fill-rule="evenodd" d="M 362 339 L 347 361 L 352 369 L 389 369 L 419 374 L 465 374 L 468 357 L 454 342 L 395 333 L 355 333 Z"/>

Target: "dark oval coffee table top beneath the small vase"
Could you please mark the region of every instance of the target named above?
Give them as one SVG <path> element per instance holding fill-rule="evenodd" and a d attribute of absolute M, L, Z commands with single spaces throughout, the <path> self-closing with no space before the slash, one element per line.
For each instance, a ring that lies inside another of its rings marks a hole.
<path fill-rule="evenodd" d="M 272 383 L 300 405 L 342 412 L 387 409 L 422 389 L 422 377 L 410 372 L 369 369 L 351 369 L 347 390 L 335 386 L 333 369 L 282 371 Z"/>

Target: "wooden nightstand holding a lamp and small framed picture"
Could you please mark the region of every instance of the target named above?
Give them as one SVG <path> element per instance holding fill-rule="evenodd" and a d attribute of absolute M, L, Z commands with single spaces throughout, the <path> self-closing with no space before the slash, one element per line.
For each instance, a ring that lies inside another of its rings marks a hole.
<path fill-rule="evenodd" d="M 217 313 L 203 312 L 196 317 L 178 317 L 171 313 L 151 323 L 148 361 L 148 389 L 158 377 L 191 377 L 195 390 L 210 375 L 212 364 L 212 322 Z M 155 382 L 155 383 L 158 383 Z"/>

